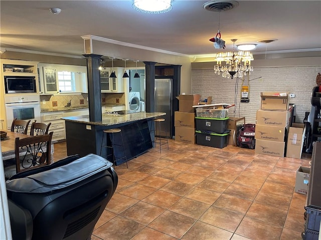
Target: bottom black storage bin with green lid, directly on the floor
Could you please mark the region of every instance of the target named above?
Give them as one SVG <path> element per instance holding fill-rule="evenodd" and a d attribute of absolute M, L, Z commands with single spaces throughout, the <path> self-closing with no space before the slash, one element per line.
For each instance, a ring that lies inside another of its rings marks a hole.
<path fill-rule="evenodd" d="M 196 144 L 223 148 L 227 146 L 230 130 L 223 133 L 196 130 Z"/>

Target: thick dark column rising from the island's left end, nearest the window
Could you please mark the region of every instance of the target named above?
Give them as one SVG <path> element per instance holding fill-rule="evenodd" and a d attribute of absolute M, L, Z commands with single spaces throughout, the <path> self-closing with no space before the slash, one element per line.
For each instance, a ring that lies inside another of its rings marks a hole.
<path fill-rule="evenodd" d="M 88 82 L 88 102 L 89 120 L 101 121 L 101 90 L 99 59 L 102 55 L 83 54 L 87 59 L 87 82 Z"/>

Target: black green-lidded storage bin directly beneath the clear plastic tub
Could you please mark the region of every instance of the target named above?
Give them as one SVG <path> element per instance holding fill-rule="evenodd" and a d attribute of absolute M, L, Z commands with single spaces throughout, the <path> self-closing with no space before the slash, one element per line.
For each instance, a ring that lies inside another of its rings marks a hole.
<path fill-rule="evenodd" d="M 210 118 L 196 116 L 196 130 L 211 131 L 215 133 L 223 133 L 227 129 L 227 120 L 229 117 L 224 118 Z"/>

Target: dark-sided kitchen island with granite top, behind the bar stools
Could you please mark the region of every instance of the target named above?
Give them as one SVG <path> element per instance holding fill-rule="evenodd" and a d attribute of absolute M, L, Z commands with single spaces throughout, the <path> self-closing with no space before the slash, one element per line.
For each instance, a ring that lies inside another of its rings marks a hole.
<path fill-rule="evenodd" d="M 153 135 L 149 132 L 150 125 L 153 123 L 152 119 L 165 114 L 165 112 L 144 111 L 128 114 L 102 113 L 101 121 L 90 121 L 89 115 L 63 117 L 66 125 L 67 154 L 85 156 L 94 153 L 100 155 L 103 130 L 120 128 L 127 160 L 130 160 L 152 148 Z M 115 144 L 118 144 L 120 140 L 115 137 Z M 110 144 L 109 139 L 104 137 L 103 144 L 107 143 Z M 116 156 L 123 154 L 120 147 L 114 150 Z M 101 155 L 106 154 L 109 152 L 104 147 Z M 108 160 L 112 161 L 112 159 Z M 116 165 L 122 162 L 123 160 L 116 159 Z"/>

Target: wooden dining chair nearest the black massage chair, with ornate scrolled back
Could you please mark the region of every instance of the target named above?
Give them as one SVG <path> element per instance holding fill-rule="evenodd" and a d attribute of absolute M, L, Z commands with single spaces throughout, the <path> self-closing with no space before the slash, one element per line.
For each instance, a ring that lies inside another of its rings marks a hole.
<path fill-rule="evenodd" d="M 53 131 L 49 134 L 30 136 L 15 139 L 16 164 L 5 167 L 5 177 L 9 179 L 18 172 L 31 167 L 40 167 L 51 163 L 51 139 Z M 23 153 L 21 155 L 21 153 Z"/>

